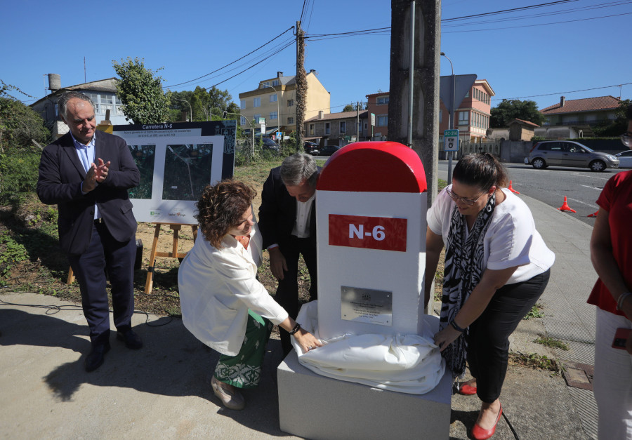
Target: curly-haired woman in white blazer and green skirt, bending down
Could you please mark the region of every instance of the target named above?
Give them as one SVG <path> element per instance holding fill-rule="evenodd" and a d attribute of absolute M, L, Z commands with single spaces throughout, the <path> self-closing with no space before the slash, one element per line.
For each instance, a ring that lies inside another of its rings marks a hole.
<path fill-rule="evenodd" d="M 185 327 L 221 354 L 213 393 L 237 410 L 245 406 L 237 388 L 258 385 L 272 324 L 293 335 L 305 352 L 321 345 L 256 279 L 261 234 L 251 206 L 255 195 L 232 180 L 206 187 L 195 216 L 204 239 L 195 241 L 178 271 Z"/>

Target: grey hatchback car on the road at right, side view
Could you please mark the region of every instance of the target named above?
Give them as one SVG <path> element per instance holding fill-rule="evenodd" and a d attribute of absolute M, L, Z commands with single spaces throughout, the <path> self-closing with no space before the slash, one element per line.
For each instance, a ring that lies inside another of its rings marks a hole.
<path fill-rule="evenodd" d="M 592 149 L 572 140 L 544 140 L 536 143 L 525 164 L 541 169 L 547 166 L 577 166 L 592 171 L 604 171 L 606 168 L 619 168 L 619 159 Z"/>

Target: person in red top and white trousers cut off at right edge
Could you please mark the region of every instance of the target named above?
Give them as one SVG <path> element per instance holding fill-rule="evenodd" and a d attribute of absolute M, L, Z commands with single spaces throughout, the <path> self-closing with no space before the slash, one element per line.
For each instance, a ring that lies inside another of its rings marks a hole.
<path fill-rule="evenodd" d="M 632 148 L 632 105 L 621 142 Z M 600 439 L 632 438 L 632 333 L 614 348 L 617 328 L 632 329 L 632 171 L 613 175 L 597 199 L 591 261 L 599 279 L 588 304 L 597 306 L 595 375 Z"/>

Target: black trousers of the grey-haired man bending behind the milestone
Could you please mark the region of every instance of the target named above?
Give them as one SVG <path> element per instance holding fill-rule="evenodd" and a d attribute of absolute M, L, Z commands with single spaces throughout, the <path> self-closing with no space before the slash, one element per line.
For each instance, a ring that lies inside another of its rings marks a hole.
<path fill-rule="evenodd" d="M 284 273 L 283 279 L 279 280 L 275 300 L 288 312 L 289 316 L 296 318 L 298 314 L 298 257 L 300 255 L 303 255 L 310 273 L 310 300 L 317 299 L 316 246 L 312 239 L 299 239 L 292 235 L 289 241 L 280 248 L 285 257 L 287 272 Z M 285 356 L 292 349 L 291 336 L 284 330 L 280 333 L 283 356 Z"/>

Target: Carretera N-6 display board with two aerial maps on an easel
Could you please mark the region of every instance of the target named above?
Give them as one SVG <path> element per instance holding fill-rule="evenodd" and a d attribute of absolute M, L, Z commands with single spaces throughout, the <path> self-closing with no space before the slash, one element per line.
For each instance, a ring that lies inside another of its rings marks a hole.
<path fill-rule="evenodd" d="M 207 185 L 232 178 L 237 121 L 114 126 L 140 171 L 129 190 L 139 222 L 195 225 L 195 204 Z"/>

